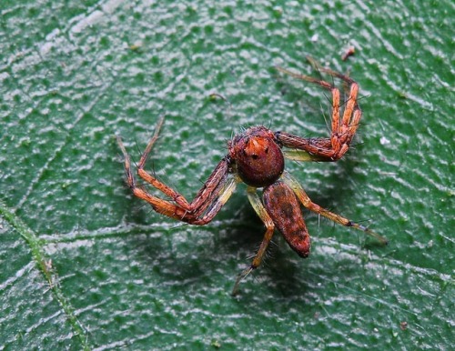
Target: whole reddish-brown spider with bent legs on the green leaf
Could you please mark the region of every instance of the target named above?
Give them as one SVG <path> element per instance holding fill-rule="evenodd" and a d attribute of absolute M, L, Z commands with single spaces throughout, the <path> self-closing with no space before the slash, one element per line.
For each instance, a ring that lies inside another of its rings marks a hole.
<path fill-rule="evenodd" d="M 310 211 L 325 216 L 342 226 L 351 226 L 362 230 L 377 238 L 382 244 L 387 244 L 386 238 L 369 230 L 368 227 L 354 223 L 313 203 L 297 180 L 284 170 L 285 158 L 297 161 L 332 162 L 339 160 L 346 154 L 362 115 L 357 103 L 359 85 L 346 75 L 341 75 L 328 68 L 319 68 L 321 72 L 338 77 L 350 86 L 349 97 L 345 102 L 346 105 L 341 116 L 339 89 L 337 87 L 307 75 L 298 75 L 287 69 L 277 68 L 282 73 L 318 84 L 331 92 L 332 131 L 330 137 L 304 138 L 285 132 L 272 132 L 265 126 L 251 127 L 244 133 L 234 136 L 227 143 L 227 155 L 218 163 L 207 182 L 190 203 L 176 190 L 144 170 L 147 157 L 157 141 L 164 118 L 159 120 L 155 134 L 148 142 L 146 151 L 137 164 L 137 175 L 168 196 L 170 200 L 153 196 L 147 192 L 144 186 L 136 185 L 131 171 L 129 155 L 126 153 L 121 138 L 117 136 L 118 145 L 125 156 L 127 185 L 132 189 L 135 196 L 147 201 L 157 213 L 162 215 L 191 225 L 207 225 L 217 215 L 221 207 L 226 204 L 237 184 L 240 182 L 247 184 L 248 200 L 264 222 L 267 231 L 253 262 L 238 275 L 232 291 L 233 295 L 238 292 L 240 281 L 260 265 L 275 227 L 284 236 L 288 245 L 297 252 L 298 256 L 308 257 L 310 240 L 298 202 Z M 287 149 L 283 149 L 283 147 Z M 262 200 L 258 196 L 258 188 L 263 189 Z"/>

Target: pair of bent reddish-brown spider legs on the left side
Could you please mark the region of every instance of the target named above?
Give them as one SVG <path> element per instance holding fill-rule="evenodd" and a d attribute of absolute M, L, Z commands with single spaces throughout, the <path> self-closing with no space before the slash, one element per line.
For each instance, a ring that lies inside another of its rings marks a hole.
<path fill-rule="evenodd" d="M 131 170 L 130 157 L 126 153 L 122 139 L 117 136 L 117 143 L 125 157 L 126 184 L 132 189 L 135 196 L 147 201 L 157 213 L 192 225 L 206 225 L 217 215 L 221 207 L 226 204 L 228 198 L 236 188 L 237 180 L 228 174 L 229 158 L 226 156 L 218 163 L 215 170 L 208 177 L 207 182 L 197 192 L 197 196 L 195 196 L 191 203 L 188 203 L 184 196 L 144 170 L 147 157 L 157 141 L 163 121 L 164 117 L 159 120 L 156 131 L 148 142 L 147 148 L 137 164 L 137 175 L 170 197 L 171 201 L 151 195 L 147 192 L 145 186 L 136 185 L 136 180 Z"/>

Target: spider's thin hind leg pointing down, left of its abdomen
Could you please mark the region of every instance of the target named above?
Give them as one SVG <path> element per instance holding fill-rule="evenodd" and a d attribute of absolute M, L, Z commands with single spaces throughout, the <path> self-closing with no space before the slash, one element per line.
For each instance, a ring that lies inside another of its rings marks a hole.
<path fill-rule="evenodd" d="M 234 286 L 234 289 L 232 290 L 232 296 L 235 296 L 238 294 L 238 286 L 240 282 L 245 279 L 252 271 L 254 271 L 258 266 L 260 266 L 260 263 L 262 262 L 262 258 L 264 257 L 268 244 L 270 243 L 270 240 L 272 239 L 273 236 L 273 231 L 275 229 L 275 225 L 273 224 L 272 218 L 268 215 L 268 212 L 264 205 L 262 205 L 262 202 L 256 193 L 256 188 L 252 186 L 248 186 L 247 189 L 247 195 L 248 195 L 248 200 L 251 203 L 251 206 L 253 206 L 254 210 L 262 219 L 262 222 L 264 222 L 264 225 L 266 226 L 266 234 L 264 235 L 264 238 L 262 239 L 262 243 L 259 246 L 258 252 L 256 253 L 255 257 L 253 258 L 253 262 L 251 263 L 248 268 L 243 270 L 237 277 L 236 284 Z"/>

